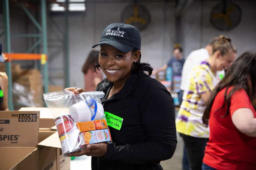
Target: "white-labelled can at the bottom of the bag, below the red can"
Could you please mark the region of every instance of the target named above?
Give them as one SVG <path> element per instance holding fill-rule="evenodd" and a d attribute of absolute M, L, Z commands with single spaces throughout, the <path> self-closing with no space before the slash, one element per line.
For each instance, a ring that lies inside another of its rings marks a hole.
<path fill-rule="evenodd" d="M 61 148 L 64 156 L 70 153 L 80 151 L 80 145 L 78 143 L 78 135 L 79 135 L 79 130 L 74 129 L 60 136 L 60 144 L 61 144 Z"/>

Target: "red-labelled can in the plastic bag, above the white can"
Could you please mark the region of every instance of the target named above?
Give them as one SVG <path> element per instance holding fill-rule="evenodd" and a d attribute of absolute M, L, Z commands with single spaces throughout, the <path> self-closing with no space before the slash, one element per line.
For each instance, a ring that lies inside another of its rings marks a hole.
<path fill-rule="evenodd" d="M 71 115 L 63 115 L 55 119 L 55 125 L 59 136 L 61 136 L 62 134 L 69 132 L 75 126 L 75 123 Z"/>

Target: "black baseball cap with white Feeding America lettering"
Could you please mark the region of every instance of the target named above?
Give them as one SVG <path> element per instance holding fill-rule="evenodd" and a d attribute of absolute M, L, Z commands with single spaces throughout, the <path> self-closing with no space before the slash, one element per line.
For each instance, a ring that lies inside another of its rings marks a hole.
<path fill-rule="evenodd" d="M 92 46 L 108 44 L 120 51 L 127 53 L 136 48 L 141 50 L 140 32 L 132 25 L 126 23 L 112 23 L 102 32 L 100 42 Z"/>

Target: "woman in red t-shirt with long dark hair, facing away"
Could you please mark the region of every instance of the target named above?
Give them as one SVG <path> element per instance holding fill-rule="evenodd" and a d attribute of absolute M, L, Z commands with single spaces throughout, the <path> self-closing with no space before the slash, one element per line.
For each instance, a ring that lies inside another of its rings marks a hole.
<path fill-rule="evenodd" d="M 202 170 L 256 169 L 256 53 L 243 53 L 212 91 Z"/>

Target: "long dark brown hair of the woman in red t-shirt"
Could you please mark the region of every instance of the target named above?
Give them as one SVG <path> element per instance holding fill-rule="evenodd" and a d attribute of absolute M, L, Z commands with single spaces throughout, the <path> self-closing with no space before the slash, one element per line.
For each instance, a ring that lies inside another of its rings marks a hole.
<path fill-rule="evenodd" d="M 250 93 L 250 88 L 248 85 L 248 76 L 251 77 L 252 93 Z M 224 103 L 221 106 L 221 108 L 215 111 L 215 113 L 220 109 L 223 109 L 227 104 L 227 111 L 225 115 L 222 115 L 221 117 L 227 116 L 229 114 L 231 96 L 240 89 L 244 89 L 246 91 L 255 109 L 255 104 L 256 104 L 255 77 L 256 77 L 256 53 L 251 53 L 251 52 L 243 53 L 234 61 L 232 66 L 225 73 L 224 78 L 218 83 L 218 85 L 214 88 L 214 90 L 212 90 L 211 96 L 206 104 L 204 115 L 202 117 L 202 121 L 204 122 L 204 124 L 208 125 L 210 111 L 211 111 L 212 104 L 214 103 L 214 99 L 216 95 L 225 87 L 227 88 L 223 96 Z M 232 90 L 227 94 L 229 87 L 234 87 L 234 88 L 232 88 Z"/>

